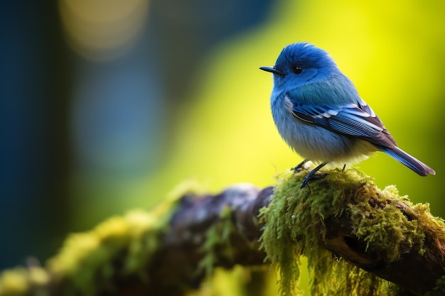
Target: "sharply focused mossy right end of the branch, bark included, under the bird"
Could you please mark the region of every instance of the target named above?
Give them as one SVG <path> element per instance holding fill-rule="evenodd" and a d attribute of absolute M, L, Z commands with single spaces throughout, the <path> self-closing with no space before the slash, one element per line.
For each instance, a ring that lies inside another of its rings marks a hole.
<path fill-rule="evenodd" d="M 300 256 L 309 259 L 311 295 L 445 295 L 445 224 L 427 204 L 395 186 L 379 190 L 358 170 L 298 185 L 282 173 L 262 209 L 264 250 L 284 295 L 296 288 Z"/>

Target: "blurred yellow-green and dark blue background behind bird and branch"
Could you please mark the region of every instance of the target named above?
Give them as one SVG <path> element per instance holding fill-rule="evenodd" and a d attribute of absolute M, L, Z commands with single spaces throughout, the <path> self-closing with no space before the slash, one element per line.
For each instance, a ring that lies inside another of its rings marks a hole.
<path fill-rule="evenodd" d="M 399 146 L 358 168 L 445 217 L 444 1 L 14 1 L 1 9 L 0 269 L 150 209 L 296 165 L 269 110 L 282 48 L 326 49 Z"/>

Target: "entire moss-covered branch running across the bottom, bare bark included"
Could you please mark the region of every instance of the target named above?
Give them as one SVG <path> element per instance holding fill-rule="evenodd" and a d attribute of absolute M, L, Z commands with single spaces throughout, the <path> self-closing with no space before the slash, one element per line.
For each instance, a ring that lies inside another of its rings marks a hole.
<path fill-rule="evenodd" d="M 186 191 L 152 212 L 110 218 L 70 235 L 44 267 L 4 271 L 0 296 L 184 295 L 215 267 L 271 262 L 286 295 L 298 289 L 300 256 L 311 295 L 444 295 L 445 224 L 427 205 L 357 170 L 300 190 L 304 175 L 284 172 L 264 190 Z"/>

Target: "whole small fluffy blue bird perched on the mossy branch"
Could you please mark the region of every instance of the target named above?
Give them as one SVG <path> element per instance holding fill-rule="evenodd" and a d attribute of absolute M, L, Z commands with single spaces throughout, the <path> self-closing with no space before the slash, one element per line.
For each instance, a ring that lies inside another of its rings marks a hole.
<path fill-rule="evenodd" d="M 274 67 L 259 69 L 274 74 L 270 104 L 280 135 L 304 161 L 321 163 L 309 172 L 302 187 L 326 163 L 353 163 L 377 150 L 421 176 L 436 173 L 397 147 L 325 50 L 294 43 L 282 50 Z"/>

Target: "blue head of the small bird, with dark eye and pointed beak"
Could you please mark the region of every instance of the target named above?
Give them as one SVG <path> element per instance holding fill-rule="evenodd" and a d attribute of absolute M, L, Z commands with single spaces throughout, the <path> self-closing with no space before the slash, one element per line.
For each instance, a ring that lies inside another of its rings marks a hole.
<path fill-rule="evenodd" d="M 275 87 L 291 88 L 324 80 L 339 72 L 328 53 L 311 43 L 287 45 L 273 67 L 259 69 L 274 74 Z"/>

